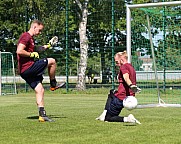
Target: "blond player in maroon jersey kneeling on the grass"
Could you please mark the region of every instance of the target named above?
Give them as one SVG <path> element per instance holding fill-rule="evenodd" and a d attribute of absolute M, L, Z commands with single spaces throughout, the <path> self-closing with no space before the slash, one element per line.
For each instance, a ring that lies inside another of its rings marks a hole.
<path fill-rule="evenodd" d="M 123 100 L 126 96 L 135 96 L 141 89 L 136 86 L 136 72 L 133 66 L 128 63 L 126 51 L 118 52 L 115 57 L 116 66 L 119 67 L 118 90 L 110 90 L 103 113 L 96 120 L 108 122 L 128 122 L 141 124 L 130 114 L 128 117 L 119 116 L 123 106 Z"/>

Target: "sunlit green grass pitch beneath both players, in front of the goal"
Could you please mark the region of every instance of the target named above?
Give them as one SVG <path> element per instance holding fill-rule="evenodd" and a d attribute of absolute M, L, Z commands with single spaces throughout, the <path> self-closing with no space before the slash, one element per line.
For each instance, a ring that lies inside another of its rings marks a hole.
<path fill-rule="evenodd" d="M 181 108 L 131 111 L 141 125 L 107 123 L 95 118 L 103 111 L 108 89 L 45 92 L 47 115 L 39 123 L 33 92 L 0 97 L 1 144 L 180 144 Z M 141 95 L 140 95 L 141 97 Z M 123 110 L 121 115 L 130 111 Z"/>

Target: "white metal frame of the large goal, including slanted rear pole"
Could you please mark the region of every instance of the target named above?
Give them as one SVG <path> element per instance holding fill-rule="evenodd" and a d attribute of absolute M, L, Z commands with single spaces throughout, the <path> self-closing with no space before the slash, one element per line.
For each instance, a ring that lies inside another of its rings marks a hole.
<path fill-rule="evenodd" d="M 173 2 L 158 2 L 158 3 L 145 3 L 145 4 L 127 4 L 126 5 L 126 31 L 127 31 L 127 53 L 128 53 L 128 62 L 131 63 L 132 60 L 132 45 L 131 45 L 131 41 L 132 41 L 132 11 L 135 9 L 141 9 L 141 8 L 153 8 L 153 7 L 164 7 L 164 6 L 181 6 L 181 1 L 173 1 Z M 160 90 L 159 90 L 159 86 L 158 86 L 158 78 L 157 78 L 157 68 L 156 68 L 156 64 L 155 64 L 155 58 L 154 58 L 154 50 L 153 50 L 153 41 L 152 41 L 152 36 L 151 36 L 151 32 L 150 32 L 150 21 L 149 21 L 149 16 L 147 17 L 147 19 L 145 20 L 147 21 L 147 27 L 148 27 L 148 33 L 149 33 L 149 40 L 150 40 L 150 48 L 151 48 L 151 52 L 152 52 L 152 58 L 153 58 L 153 66 L 154 66 L 154 72 L 155 72 L 155 77 L 153 79 L 155 79 L 155 82 L 157 83 L 157 102 L 154 103 L 149 103 L 149 104 L 142 104 L 142 105 L 138 105 L 138 108 L 144 108 L 144 107 L 181 107 L 181 103 L 167 103 L 165 102 L 163 99 L 161 99 L 160 97 Z M 181 79 L 181 77 L 179 77 L 179 79 Z M 180 100 L 180 99 L 179 99 Z"/>

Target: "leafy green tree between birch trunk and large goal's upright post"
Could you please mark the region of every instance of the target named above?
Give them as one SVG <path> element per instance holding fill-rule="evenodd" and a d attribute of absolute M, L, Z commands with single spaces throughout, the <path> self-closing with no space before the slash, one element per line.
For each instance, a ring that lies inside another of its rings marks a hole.
<path fill-rule="evenodd" d="M 102 83 L 106 83 L 106 68 L 112 70 L 112 55 L 126 49 L 126 35 L 123 34 L 126 28 L 125 3 L 122 0 L 98 0 L 91 1 L 90 5 L 87 27 L 90 33 L 89 57 L 100 54 Z"/>

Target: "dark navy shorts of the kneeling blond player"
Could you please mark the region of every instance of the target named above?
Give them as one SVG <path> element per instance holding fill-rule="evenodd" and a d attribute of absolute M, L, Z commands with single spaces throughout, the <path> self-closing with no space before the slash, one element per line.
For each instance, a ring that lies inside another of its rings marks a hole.
<path fill-rule="evenodd" d="M 117 98 L 116 96 L 113 96 L 107 112 L 111 116 L 118 116 L 123 108 L 123 101 Z"/>

